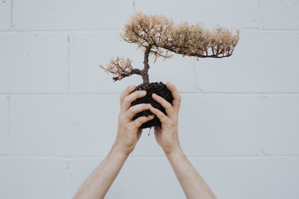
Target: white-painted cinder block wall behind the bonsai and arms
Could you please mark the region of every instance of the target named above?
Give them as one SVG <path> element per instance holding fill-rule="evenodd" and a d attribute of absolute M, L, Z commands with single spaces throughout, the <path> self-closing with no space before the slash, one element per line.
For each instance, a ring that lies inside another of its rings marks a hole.
<path fill-rule="evenodd" d="M 0 199 L 71 198 L 110 151 L 119 95 L 99 69 L 136 10 L 240 29 L 233 56 L 150 59 L 182 96 L 183 151 L 217 198 L 298 198 L 299 1 L 0 1 Z M 145 129 L 106 198 L 184 198 Z"/>

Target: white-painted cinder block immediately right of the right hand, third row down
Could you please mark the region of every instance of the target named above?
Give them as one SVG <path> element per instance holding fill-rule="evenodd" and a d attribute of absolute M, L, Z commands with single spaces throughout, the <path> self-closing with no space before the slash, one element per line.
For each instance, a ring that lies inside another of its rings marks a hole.
<path fill-rule="evenodd" d="M 179 139 L 188 156 L 261 152 L 259 95 L 181 94 Z"/>

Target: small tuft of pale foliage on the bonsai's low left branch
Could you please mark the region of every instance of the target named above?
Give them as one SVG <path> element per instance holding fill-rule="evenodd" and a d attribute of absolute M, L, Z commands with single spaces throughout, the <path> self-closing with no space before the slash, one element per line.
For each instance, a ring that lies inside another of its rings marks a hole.
<path fill-rule="evenodd" d="M 132 75 L 131 71 L 134 70 L 134 68 L 131 66 L 131 63 L 132 61 L 129 59 L 124 59 L 124 57 L 119 58 L 117 56 L 116 60 L 114 60 L 113 57 L 111 58 L 110 63 L 106 65 L 106 68 L 104 68 L 101 64 L 99 64 L 99 66 L 104 69 L 106 73 L 117 75 L 117 77 L 112 77 L 112 79 L 116 81 Z"/>

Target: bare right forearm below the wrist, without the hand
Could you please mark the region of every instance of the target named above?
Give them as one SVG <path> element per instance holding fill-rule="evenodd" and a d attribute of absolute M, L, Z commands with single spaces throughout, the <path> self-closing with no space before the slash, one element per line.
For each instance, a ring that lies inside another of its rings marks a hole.
<path fill-rule="evenodd" d="M 166 157 L 188 199 L 216 199 L 210 187 L 188 161 L 180 148 Z"/>

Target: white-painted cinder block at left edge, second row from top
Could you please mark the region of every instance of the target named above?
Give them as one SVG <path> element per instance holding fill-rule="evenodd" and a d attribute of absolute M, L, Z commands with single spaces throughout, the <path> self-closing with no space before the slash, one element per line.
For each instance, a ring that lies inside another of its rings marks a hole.
<path fill-rule="evenodd" d="M 67 34 L 1 34 L 1 93 L 68 92 Z"/>

